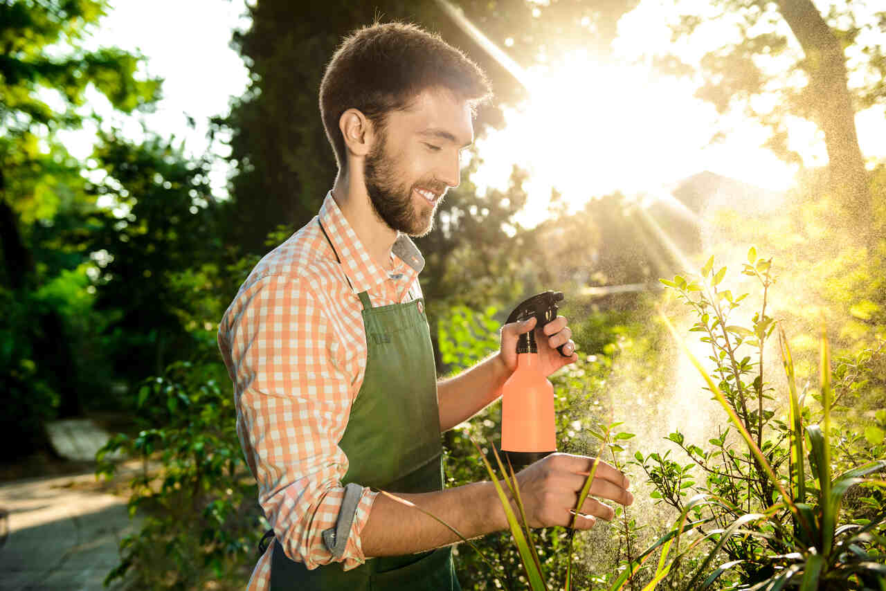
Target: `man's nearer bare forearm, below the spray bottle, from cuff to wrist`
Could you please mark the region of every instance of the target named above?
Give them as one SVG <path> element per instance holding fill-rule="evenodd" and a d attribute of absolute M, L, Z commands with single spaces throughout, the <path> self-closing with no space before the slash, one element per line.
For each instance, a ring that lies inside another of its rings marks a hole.
<path fill-rule="evenodd" d="M 397 496 L 452 525 L 468 540 L 506 527 L 504 509 L 491 481 L 434 493 Z M 379 494 L 372 503 L 369 519 L 361 532 L 361 547 L 367 558 L 424 552 L 460 540 L 437 520 L 384 494 Z"/>

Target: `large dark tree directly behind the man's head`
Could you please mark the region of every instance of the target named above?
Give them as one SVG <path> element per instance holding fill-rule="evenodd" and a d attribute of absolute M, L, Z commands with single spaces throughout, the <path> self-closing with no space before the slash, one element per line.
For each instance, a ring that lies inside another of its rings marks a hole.
<path fill-rule="evenodd" d="M 571 43 L 596 39 L 604 51 L 606 40 L 615 35 L 618 16 L 637 0 L 579 0 L 548 6 L 523 0 L 457 4 L 495 43 L 503 47 L 510 42 L 509 53 L 529 66 L 536 63 L 540 45 L 553 56 Z M 478 136 L 489 126 L 501 126 L 499 105 L 525 97 L 514 75 L 435 0 L 332 0 L 298 10 L 284 0 L 263 0 L 249 10 L 253 26 L 235 34 L 233 43 L 250 68 L 253 83 L 229 118 L 215 124 L 230 129 L 230 159 L 238 168 L 232 181 L 237 215 L 229 239 L 250 252 L 264 250 L 264 237 L 277 224 L 298 228 L 306 223 L 335 178 L 317 90 L 339 40 L 355 28 L 377 18 L 416 22 L 466 51 L 489 75 L 495 91 L 495 105 L 478 113 Z"/>

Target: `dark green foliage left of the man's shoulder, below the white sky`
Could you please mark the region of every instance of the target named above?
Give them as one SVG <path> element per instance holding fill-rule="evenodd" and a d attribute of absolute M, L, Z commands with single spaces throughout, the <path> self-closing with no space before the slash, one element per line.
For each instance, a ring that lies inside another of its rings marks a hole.
<path fill-rule="evenodd" d="M 116 134 L 102 134 L 93 159 L 103 174 L 87 189 L 113 208 L 91 214 L 80 238 L 98 255 L 96 307 L 107 317 L 117 371 L 139 381 L 159 374 L 170 357 L 191 359 L 201 348 L 214 354 L 214 338 L 207 347 L 205 337 L 194 337 L 214 333 L 223 308 L 209 306 L 198 324 L 193 318 L 194 308 L 209 304 L 195 300 L 194 288 L 213 294 L 208 278 L 218 273 L 209 266 L 224 264 L 209 163 L 186 159 L 157 136 L 132 144 Z"/>

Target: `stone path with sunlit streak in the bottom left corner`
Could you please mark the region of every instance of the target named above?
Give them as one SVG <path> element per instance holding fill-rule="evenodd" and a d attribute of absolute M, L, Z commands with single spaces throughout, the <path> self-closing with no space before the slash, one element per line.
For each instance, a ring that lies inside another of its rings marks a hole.
<path fill-rule="evenodd" d="M 70 459 L 92 459 L 108 434 L 88 419 L 49 426 L 53 446 Z M 125 478 L 125 476 L 123 477 Z M 119 564 L 118 544 L 135 532 L 126 501 L 110 494 L 93 473 L 31 478 L 0 484 L 0 509 L 6 512 L 0 536 L 0 589 L 25 591 L 99 591 Z"/>

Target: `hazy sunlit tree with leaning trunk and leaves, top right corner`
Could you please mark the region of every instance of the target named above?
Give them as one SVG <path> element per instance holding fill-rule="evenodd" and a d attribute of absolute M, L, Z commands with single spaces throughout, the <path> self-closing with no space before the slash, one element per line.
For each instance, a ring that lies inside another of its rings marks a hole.
<path fill-rule="evenodd" d="M 798 159 L 787 144 L 789 116 L 813 121 L 828 150 L 830 191 L 844 214 L 868 220 L 872 197 L 855 113 L 886 103 L 877 35 L 884 23 L 886 12 L 874 12 L 873 3 L 833 2 L 823 13 L 812 0 L 718 0 L 704 14 L 681 14 L 673 31 L 696 43 L 702 27 L 721 27 L 718 39 L 728 41 L 701 58 L 698 96 L 720 113 L 742 108 L 766 123 L 770 147 L 788 159 Z M 658 61 L 682 74 L 693 70 L 674 55 Z M 851 85 L 848 74 L 858 74 Z"/>

